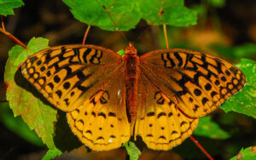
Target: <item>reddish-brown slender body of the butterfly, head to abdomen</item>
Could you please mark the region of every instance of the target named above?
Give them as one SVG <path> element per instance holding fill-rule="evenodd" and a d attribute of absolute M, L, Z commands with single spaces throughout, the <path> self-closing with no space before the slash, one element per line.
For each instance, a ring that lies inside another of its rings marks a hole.
<path fill-rule="evenodd" d="M 137 82 L 138 82 L 138 63 L 137 49 L 132 43 L 125 48 L 125 56 L 123 57 L 125 67 L 125 100 L 126 107 L 131 116 L 131 121 L 137 115 Z"/>

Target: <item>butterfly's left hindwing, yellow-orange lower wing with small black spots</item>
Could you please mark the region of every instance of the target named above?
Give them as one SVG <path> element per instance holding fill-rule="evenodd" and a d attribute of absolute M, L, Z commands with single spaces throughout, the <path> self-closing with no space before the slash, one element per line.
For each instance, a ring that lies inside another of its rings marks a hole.
<path fill-rule="evenodd" d="M 90 99 L 67 113 L 73 133 L 92 150 L 115 149 L 130 140 L 124 77 L 121 69 L 108 75 Z"/>

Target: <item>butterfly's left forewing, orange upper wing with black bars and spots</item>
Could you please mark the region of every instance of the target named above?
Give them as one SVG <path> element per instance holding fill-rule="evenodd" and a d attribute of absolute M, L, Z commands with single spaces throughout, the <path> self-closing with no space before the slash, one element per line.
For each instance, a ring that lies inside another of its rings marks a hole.
<path fill-rule="evenodd" d="M 73 111 L 121 64 L 121 56 L 110 49 L 64 45 L 32 54 L 21 65 L 21 72 L 54 106 Z"/>

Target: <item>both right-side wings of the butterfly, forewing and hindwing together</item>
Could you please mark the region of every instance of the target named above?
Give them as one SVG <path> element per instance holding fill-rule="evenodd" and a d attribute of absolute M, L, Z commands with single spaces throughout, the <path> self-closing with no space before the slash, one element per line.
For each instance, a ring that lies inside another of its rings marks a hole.
<path fill-rule="evenodd" d="M 198 118 L 246 83 L 243 73 L 214 55 L 163 49 L 140 57 L 135 135 L 149 148 L 170 150 L 193 133 Z"/>

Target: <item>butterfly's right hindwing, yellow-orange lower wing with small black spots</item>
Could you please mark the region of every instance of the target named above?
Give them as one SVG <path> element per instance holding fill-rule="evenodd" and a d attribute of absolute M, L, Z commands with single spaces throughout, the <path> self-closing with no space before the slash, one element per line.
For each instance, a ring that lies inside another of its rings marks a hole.
<path fill-rule="evenodd" d="M 143 73 L 138 94 L 135 137 L 141 135 L 148 148 L 167 151 L 193 133 L 199 119 L 185 116 Z"/>

